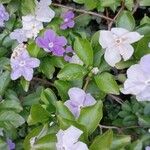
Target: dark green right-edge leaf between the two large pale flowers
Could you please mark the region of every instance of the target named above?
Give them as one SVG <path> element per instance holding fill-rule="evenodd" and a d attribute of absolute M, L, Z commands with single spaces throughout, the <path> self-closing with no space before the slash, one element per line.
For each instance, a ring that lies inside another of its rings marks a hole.
<path fill-rule="evenodd" d="M 142 56 L 150 53 L 150 47 L 148 46 L 150 42 L 150 35 L 145 35 L 135 47 L 135 57 L 140 59 Z"/>

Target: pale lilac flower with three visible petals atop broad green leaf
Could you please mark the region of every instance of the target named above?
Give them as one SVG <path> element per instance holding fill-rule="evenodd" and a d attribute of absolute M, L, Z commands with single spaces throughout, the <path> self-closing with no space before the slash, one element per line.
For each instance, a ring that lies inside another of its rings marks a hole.
<path fill-rule="evenodd" d="M 71 88 L 68 91 L 70 100 L 67 100 L 64 104 L 72 112 L 72 114 L 78 118 L 82 107 L 94 105 L 96 100 L 91 96 L 90 93 L 86 94 L 84 90 L 80 88 Z"/>

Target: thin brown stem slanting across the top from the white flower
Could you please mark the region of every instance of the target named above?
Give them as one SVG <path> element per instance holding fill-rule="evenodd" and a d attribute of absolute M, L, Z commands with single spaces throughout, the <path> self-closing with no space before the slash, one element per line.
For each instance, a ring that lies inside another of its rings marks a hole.
<path fill-rule="evenodd" d="M 73 8 L 73 7 L 70 7 L 70 6 L 65 6 L 65 5 L 57 4 L 57 3 L 52 3 L 51 5 L 55 6 L 55 7 L 66 8 L 66 9 L 73 10 L 73 11 L 80 12 L 80 13 L 84 13 L 84 14 L 89 14 L 89 15 L 97 16 L 97 17 L 100 17 L 100 18 L 103 18 L 105 20 L 109 20 L 109 21 L 113 22 L 113 19 L 111 19 L 111 18 L 109 18 L 107 16 L 104 16 L 104 15 L 92 12 L 92 11 L 87 11 L 87 10 L 83 10 L 83 9 L 81 10 L 81 9 L 77 9 L 77 8 Z"/>

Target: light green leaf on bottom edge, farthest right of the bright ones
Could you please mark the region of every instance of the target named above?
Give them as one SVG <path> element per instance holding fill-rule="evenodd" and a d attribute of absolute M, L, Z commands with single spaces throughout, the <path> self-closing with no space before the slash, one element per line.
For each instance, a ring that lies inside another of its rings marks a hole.
<path fill-rule="evenodd" d="M 113 137 L 111 150 L 121 149 L 131 142 L 131 137 L 128 135 L 118 135 Z"/>

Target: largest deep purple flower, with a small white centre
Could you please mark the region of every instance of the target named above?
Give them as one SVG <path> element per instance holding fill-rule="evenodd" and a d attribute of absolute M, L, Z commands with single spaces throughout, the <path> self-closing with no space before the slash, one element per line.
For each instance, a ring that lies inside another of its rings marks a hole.
<path fill-rule="evenodd" d="M 39 47 L 43 48 L 46 52 L 52 52 L 55 56 L 63 56 L 67 44 L 64 36 L 57 36 L 53 30 L 46 30 L 44 37 L 38 37 L 36 43 Z"/>

